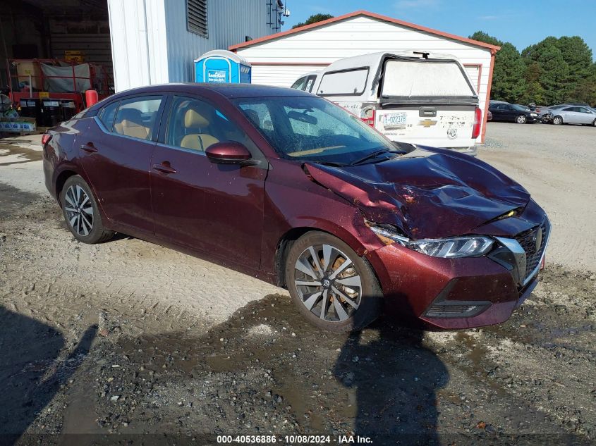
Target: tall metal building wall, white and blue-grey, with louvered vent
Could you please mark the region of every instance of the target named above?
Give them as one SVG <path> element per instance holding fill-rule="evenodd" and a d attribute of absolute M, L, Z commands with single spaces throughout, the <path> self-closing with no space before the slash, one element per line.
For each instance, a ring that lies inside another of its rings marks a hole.
<path fill-rule="evenodd" d="M 281 0 L 108 0 L 116 92 L 193 80 L 193 61 L 281 29 Z"/>

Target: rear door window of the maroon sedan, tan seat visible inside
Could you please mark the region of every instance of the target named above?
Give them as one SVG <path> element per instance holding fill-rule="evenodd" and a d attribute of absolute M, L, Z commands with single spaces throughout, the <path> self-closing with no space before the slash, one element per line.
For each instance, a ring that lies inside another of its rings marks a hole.
<path fill-rule="evenodd" d="M 139 140 L 150 140 L 156 129 L 161 104 L 160 96 L 135 97 L 121 101 L 114 120 L 114 132 Z"/>

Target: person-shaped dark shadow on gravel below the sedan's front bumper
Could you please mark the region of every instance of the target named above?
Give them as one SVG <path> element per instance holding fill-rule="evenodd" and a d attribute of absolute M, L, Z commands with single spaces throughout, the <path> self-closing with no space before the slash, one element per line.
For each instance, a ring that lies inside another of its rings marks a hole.
<path fill-rule="evenodd" d="M 346 340 L 335 376 L 355 390 L 356 435 L 374 444 L 438 445 L 436 391 L 449 374 L 420 330 L 379 321 Z"/>

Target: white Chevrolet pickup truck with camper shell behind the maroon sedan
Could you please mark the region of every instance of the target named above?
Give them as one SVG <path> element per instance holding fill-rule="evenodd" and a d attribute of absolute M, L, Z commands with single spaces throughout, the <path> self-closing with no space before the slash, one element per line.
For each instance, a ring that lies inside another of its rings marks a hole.
<path fill-rule="evenodd" d="M 476 154 L 482 125 L 478 93 L 461 62 L 449 54 L 343 58 L 292 87 L 333 101 L 390 140 Z"/>

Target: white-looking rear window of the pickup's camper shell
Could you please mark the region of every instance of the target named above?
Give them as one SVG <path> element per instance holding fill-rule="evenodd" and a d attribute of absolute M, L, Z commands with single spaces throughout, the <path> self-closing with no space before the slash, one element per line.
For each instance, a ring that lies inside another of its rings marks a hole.
<path fill-rule="evenodd" d="M 384 97 L 472 97 L 466 73 L 455 61 L 389 60 L 385 63 Z"/>

